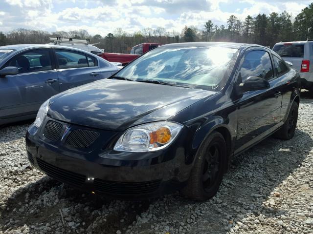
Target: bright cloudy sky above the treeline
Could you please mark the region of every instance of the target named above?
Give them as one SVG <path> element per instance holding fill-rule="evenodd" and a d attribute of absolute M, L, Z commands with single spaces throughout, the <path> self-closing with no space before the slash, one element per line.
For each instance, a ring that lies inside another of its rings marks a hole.
<path fill-rule="evenodd" d="M 312 0 L 0 0 L 0 31 L 17 28 L 70 31 L 86 29 L 106 36 L 121 27 L 134 33 L 145 27 L 180 32 L 185 25 L 203 29 L 205 21 L 226 24 L 230 15 L 286 10 L 292 17 Z"/>

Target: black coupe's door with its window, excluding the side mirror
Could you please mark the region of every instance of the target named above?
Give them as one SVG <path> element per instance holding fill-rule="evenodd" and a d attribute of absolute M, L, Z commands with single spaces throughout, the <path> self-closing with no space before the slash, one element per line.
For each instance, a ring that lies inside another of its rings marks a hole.
<path fill-rule="evenodd" d="M 235 85 L 245 82 L 248 77 L 261 77 L 268 80 L 266 90 L 246 91 L 239 98 L 238 126 L 235 154 L 267 135 L 280 122 L 282 95 L 281 82 L 274 77 L 272 60 L 263 48 L 246 51 L 241 60 L 241 68 Z"/>

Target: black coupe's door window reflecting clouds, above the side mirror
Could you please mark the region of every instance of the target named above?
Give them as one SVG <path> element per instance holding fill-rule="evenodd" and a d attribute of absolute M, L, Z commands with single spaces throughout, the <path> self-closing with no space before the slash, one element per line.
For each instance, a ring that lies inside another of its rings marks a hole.
<path fill-rule="evenodd" d="M 268 52 L 253 50 L 246 54 L 240 69 L 242 82 L 248 77 L 273 78 L 273 67 Z"/>

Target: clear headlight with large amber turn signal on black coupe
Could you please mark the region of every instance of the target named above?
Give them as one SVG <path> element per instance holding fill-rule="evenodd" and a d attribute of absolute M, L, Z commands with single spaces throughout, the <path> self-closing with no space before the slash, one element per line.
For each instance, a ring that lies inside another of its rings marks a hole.
<path fill-rule="evenodd" d="M 147 123 L 130 128 L 116 142 L 114 150 L 150 152 L 165 148 L 178 136 L 183 125 L 171 121 Z"/>

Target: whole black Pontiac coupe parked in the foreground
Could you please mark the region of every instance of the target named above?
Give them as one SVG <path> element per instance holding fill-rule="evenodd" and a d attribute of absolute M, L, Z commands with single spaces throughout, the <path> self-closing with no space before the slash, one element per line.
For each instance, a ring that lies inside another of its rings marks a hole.
<path fill-rule="evenodd" d="M 47 100 L 29 161 L 76 188 L 121 198 L 214 196 L 229 159 L 294 135 L 299 74 L 253 44 L 160 46 L 108 79 Z"/>

